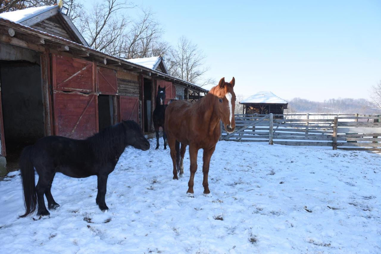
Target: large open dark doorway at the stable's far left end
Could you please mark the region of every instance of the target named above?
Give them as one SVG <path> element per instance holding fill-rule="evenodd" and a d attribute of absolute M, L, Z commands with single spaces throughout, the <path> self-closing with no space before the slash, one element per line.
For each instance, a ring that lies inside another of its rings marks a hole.
<path fill-rule="evenodd" d="M 0 85 L 8 171 L 21 150 L 44 137 L 41 68 L 27 61 L 0 61 Z"/>

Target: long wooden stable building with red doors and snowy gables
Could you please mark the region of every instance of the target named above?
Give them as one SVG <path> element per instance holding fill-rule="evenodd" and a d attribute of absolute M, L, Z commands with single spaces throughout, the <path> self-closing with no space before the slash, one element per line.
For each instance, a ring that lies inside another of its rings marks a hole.
<path fill-rule="evenodd" d="M 65 13 L 53 5 L 0 14 L 0 175 L 46 135 L 86 138 L 122 119 L 149 132 L 158 85 L 168 101 L 208 92 L 170 76 L 162 57 L 94 50 Z"/>

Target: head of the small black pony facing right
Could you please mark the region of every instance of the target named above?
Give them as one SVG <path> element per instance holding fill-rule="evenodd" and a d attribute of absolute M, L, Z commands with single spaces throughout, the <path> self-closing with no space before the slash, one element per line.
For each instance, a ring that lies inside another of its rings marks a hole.
<path fill-rule="evenodd" d="M 146 151 L 149 149 L 149 142 L 144 137 L 142 128 L 139 124 L 134 121 L 123 121 L 123 126 L 126 132 L 126 143 L 127 145 L 133 146 L 134 148 Z"/>

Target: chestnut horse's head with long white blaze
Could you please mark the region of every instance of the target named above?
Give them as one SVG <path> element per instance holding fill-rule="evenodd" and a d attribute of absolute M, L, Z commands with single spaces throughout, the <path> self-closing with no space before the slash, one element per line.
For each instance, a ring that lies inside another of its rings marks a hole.
<path fill-rule="evenodd" d="M 235 129 L 235 93 L 233 90 L 234 83 L 234 77 L 229 83 L 225 82 L 225 78 L 222 78 L 219 80 L 218 85 L 213 88 L 213 94 L 215 95 L 215 105 L 218 109 L 217 112 L 224 123 L 224 127 L 227 133 L 232 133 Z"/>

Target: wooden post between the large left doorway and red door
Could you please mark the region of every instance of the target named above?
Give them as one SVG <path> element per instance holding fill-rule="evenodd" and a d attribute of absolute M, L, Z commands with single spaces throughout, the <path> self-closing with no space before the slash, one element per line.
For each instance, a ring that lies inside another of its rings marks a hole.
<path fill-rule="evenodd" d="M 41 81 L 42 81 L 42 104 L 44 114 L 45 136 L 53 135 L 53 108 L 51 100 L 50 84 L 50 58 L 49 51 L 46 50 L 41 55 Z"/>

